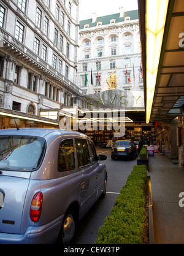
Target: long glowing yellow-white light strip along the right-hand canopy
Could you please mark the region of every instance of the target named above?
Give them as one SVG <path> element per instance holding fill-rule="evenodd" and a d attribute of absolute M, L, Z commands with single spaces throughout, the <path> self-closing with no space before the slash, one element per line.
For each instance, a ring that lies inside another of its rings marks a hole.
<path fill-rule="evenodd" d="M 150 122 L 159 58 L 163 43 L 164 28 L 169 0 L 146 1 L 146 56 L 147 56 L 147 103 L 146 122 Z"/>

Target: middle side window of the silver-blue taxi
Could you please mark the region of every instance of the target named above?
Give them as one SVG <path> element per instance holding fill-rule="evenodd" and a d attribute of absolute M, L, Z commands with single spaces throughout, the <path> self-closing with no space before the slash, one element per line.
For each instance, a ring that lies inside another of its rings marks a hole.
<path fill-rule="evenodd" d="M 79 168 L 90 165 L 90 153 L 86 139 L 75 139 Z"/>

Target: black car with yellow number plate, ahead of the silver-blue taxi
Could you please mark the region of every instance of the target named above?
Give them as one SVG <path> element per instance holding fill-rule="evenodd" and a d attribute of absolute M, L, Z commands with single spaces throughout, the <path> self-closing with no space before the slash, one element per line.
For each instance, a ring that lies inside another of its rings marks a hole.
<path fill-rule="evenodd" d="M 116 141 L 111 149 L 111 159 L 116 157 L 132 158 L 137 156 L 137 147 L 131 140 Z"/>

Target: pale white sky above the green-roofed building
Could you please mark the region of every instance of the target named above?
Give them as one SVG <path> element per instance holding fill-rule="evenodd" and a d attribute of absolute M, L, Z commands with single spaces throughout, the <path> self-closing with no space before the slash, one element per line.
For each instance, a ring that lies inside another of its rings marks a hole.
<path fill-rule="evenodd" d="M 137 0 L 79 0 L 79 20 L 92 18 L 93 12 L 98 17 L 118 14 L 120 7 L 124 7 L 125 12 L 137 10 Z"/>

